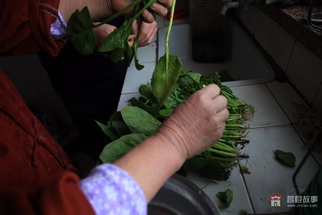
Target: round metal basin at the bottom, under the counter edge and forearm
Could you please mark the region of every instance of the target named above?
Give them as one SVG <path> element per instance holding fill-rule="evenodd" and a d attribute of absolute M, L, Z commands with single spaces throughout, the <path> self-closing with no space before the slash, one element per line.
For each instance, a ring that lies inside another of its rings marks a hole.
<path fill-rule="evenodd" d="M 149 215 L 221 215 L 210 198 L 188 179 L 174 175 L 148 205 Z"/>

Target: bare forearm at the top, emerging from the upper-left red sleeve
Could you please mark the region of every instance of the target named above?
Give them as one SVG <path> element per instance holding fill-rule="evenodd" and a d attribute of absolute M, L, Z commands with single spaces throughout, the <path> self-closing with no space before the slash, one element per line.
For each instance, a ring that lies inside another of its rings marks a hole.
<path fill-rule="evenodd" d="M 58 10 L 67 23 L 76 9 L 82 10 L 86 6 L 89 8 L 93 22 L 100 21 L 113 14 L 110 0 L 60 0 Z"/>

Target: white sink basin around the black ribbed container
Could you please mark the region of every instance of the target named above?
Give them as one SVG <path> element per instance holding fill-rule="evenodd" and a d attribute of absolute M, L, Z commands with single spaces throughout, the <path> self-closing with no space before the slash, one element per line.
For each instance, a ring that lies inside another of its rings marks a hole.
<path fill-rule="evenodd" d="M 168 26 L 158 30 L 158 58 L 165 54 L 165 38 Z M 228 87 L 267 83 L 275 73 L 256 44 L 235 20 L 227 22 L 228 56 L 220 63 L 200 63 L 192 59 L 192 44 L 189 23 L 173 25 L 169 38 L 170 52 L 180 57 L 183 68 L 203 76 L 215 71 L 227 71 L 235 80 L 225 82 Z"/>

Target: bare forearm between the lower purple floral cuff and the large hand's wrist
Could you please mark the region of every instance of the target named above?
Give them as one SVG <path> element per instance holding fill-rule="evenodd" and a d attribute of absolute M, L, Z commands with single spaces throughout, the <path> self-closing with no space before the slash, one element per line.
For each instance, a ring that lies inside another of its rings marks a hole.
<path fill-rule="evenodd" d="M 149 202 L 184 161 L 182 154 L 164 136 L 154 135 L 114 164 L 137 181 Z"/>

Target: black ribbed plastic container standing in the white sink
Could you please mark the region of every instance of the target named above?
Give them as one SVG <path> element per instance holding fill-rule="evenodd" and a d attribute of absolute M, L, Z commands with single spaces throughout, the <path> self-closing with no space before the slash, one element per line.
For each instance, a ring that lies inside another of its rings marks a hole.
<path fill-rule="evenodd" d="M 225 60 L 226 17 L 220 14 L 222 0 L 189 0 L 192 54 L 198 62 Z"/>

